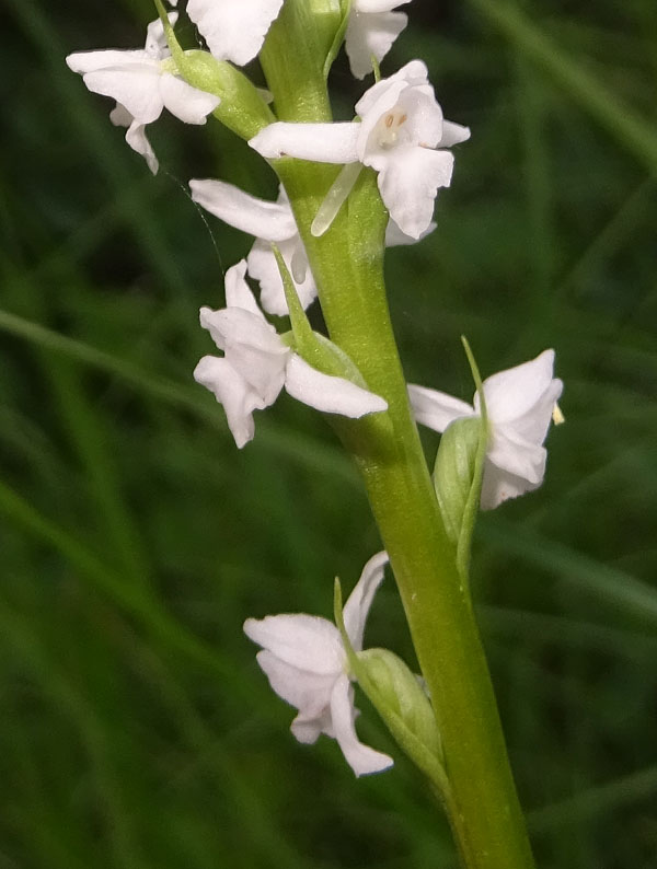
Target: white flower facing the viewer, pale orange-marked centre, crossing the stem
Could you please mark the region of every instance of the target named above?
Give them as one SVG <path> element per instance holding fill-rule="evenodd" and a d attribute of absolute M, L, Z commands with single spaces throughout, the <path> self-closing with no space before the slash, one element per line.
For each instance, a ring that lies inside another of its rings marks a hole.
<path fill-rule="evenodd" d="M 361 123 L 277 121 L 249 142 L 265 158 L 296 157 L 320 163 L 356 163 L 379 173 L 379 190 L 402 232 L 418 239 L 431 222 L 439 187 L 453 169 L 449 148 L 470 130 L 442 118 L 427 68 L 412 60 L 370 88 L 356 104 Z"/>

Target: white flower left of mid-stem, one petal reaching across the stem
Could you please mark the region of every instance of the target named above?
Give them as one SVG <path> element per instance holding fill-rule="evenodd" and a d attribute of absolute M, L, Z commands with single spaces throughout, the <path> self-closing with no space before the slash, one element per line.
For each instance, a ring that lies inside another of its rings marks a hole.
<path fill-rule="evenodd" d="M 323 374 L 293 352 L 265 320 L 245 274 L 244 259 L 226 273 L 224 309 L 200 309 L 200 325 L 223 357 L 204 356 L 194 370 L 194 379 L 223 405 L 240 449 L 253 438 L 253 412 L 274 404 L 284 386 L 293 398 L 326 414 L 357 419 L 388 408 L 378 395 Z"/>

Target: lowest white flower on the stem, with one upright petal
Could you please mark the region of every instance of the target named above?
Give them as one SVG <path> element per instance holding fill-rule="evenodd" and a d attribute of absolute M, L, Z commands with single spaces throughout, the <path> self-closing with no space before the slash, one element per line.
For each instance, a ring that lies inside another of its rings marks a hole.
<path fill-rule="evenodd" d="M 387 563 L 384 552 L 370 558 L 345 604 L 345 627 L 357 652 Z M 304 613 L 268 615 L 262 621 L 247 618 L 244 633 L 263 647 L 257 662 L 273 690 L 299 710 L 290 728 L 299 742 L 314 743 L 320 733 L 336 739 L 357 776 L 392 766 L 392 757 L 358 741 L 347 654 L 334 624 Z"/>

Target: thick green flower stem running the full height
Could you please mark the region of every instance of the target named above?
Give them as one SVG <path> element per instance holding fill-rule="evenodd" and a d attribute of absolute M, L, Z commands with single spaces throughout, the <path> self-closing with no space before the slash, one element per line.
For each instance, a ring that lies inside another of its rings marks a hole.
<path fill-rule="evenodd" d="M 337 5 L 287 0 L 269 31 L 261 60 L 281 120 L 331 120 L 323 58 L 338 26 Z M 533 861 L 469 591 L 445 532 L 390 323 L 383 280 L 388 213 L 376 176 L 361 172 L 331 229 L 314 237 L 310 228 L 336 169 L 289 159 L 277 160 L 275 169 L 331 338 L 389 405 L 377 417 L 341 420 L 338 430 L 362 473 L 429 687 L 449 780 L 443 799 L 463 864 L 528 869 Z"/>

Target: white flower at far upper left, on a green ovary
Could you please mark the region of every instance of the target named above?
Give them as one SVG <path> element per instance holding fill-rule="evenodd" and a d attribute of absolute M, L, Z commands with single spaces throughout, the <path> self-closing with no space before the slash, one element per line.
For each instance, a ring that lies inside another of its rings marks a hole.
<path fill-rule="evenodd" d="M 176 18 L 176 12 L 169 14 L 172 24 Z M 169 57 L 164 28 L 158 19 L 148 25 L 145 48 L 78 51 L 66 59 L 90 91 L 116 100 L 112 123 L 128 127 L 126 141 L 146 159 L 153 174 L 158 160 L 146 137 L 146 125 L 157 120 L 163 108 L 186 124 L 205 124 L 220 102 L 218 96 L 192 88 L 169 72 L 163 65 Z"/>

